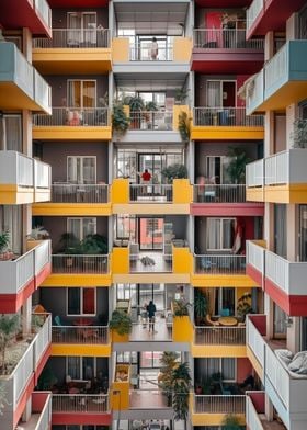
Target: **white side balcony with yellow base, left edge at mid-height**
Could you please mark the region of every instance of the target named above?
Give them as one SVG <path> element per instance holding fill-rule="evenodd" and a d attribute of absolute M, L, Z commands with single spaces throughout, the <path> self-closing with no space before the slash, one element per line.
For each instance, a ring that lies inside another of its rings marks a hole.
<path fill-rule="evenodd" d="M 0 151 L 2 204 L 26 204 L 49 200 L 50 166 L 23 154 Z"/>

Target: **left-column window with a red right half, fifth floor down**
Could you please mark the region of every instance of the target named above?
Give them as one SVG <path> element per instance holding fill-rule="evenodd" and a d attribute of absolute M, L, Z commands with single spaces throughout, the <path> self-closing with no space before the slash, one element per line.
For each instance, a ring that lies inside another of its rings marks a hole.
<path fill-rule="evenodd" d="M 95 288 L 67 288 L 67 315 L 95 315 Z"/>

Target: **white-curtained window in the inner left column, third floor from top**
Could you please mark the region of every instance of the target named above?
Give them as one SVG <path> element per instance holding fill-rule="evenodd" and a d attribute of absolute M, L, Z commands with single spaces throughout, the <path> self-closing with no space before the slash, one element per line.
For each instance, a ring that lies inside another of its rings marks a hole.
<path fill-rule="evenodd" d="M 95 183 L 96 157 L 67 157 L 67 182 Z"/>

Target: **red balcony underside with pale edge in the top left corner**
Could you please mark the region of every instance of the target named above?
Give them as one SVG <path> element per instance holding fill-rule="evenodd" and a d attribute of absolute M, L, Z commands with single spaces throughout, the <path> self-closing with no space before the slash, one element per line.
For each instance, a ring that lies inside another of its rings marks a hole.
<path fill-rule="evenodd" d="M 31 0 L 0 1 L 0 24 L 5 30 L 27 27 L 33 34 L 52 36 L 48 23 L 36 12 Z"/>

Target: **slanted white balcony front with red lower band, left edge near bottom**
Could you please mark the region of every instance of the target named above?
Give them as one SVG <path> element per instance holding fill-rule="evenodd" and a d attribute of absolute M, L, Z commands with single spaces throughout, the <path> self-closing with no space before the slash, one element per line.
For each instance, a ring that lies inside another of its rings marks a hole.
<path fill-rule="evenodd" d="M 38 331 L 24 350 L 13 371 L 9 375 L 0 376 L 7 398 L 3 416 L 1 417 L 1 426 L 5 429 L 15 428 L 18 425 L 25 404 L 49 358 L 52 317 L 45 316 L 43 325 L 35 327 Z"/>

